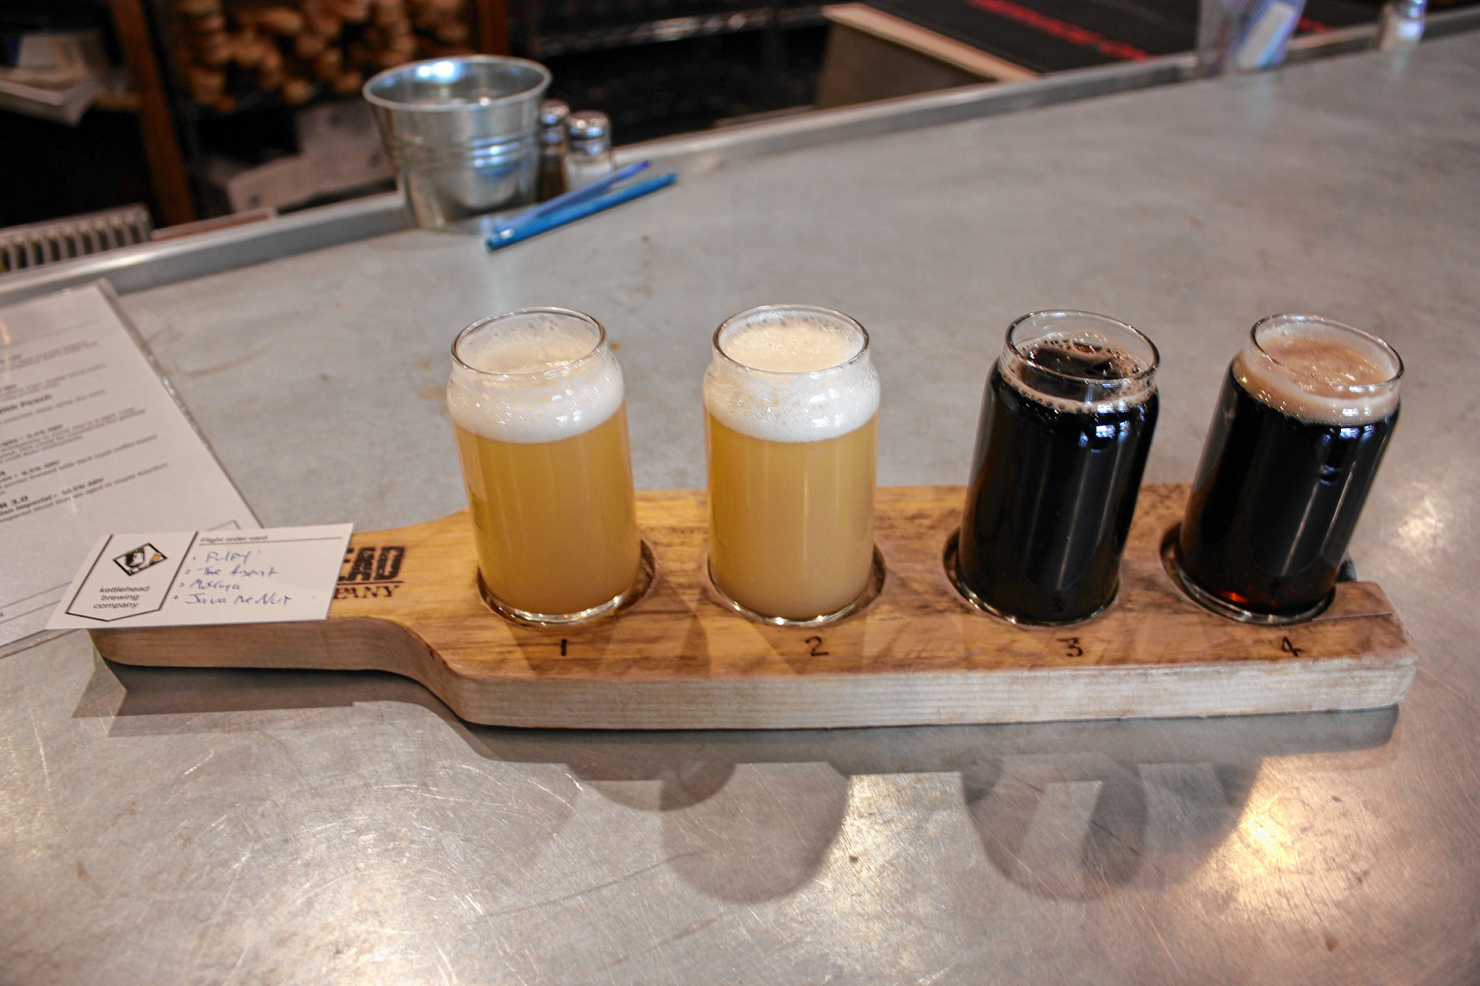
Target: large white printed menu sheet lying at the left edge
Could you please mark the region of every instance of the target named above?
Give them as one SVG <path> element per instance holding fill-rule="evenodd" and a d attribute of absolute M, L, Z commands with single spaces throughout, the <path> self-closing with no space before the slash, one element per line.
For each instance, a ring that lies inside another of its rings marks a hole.
<path fill-rule="evenodd" d="M 107 531 L 256 526 L 101 284 L 0 309 L 0 646 Z"/>

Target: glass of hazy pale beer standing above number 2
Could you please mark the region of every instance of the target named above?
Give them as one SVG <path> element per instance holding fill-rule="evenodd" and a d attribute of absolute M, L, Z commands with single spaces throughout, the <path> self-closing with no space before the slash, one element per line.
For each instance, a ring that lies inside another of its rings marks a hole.
<path fill-rule="evenodd" d="M 709 574 L 734 609 L 814 624 L 876 591 L 878 409 L 869 334 L 847 315 L 771 305 L 715 333 Z"/>

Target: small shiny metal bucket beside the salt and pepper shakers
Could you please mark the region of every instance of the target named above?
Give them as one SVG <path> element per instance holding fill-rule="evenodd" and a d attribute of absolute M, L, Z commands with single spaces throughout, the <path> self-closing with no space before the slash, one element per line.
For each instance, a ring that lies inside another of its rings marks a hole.
<path fill-rule="evenodd" d="M 525 205 L 539 186 L 549 69 L 466 55 L 386 69 L 364 86 L 417 226 Z"/>

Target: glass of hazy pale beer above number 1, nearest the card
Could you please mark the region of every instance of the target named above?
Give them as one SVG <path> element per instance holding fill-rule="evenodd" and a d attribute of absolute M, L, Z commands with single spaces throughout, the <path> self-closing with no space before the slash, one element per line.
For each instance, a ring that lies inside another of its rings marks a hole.
<path fill-rule="evenodd" d="M 447 407 L 488 603 L 568 624 L 630 599 L 642 544 L 605 330 L 555 307 L 474 322 L 453 343 Z"/>

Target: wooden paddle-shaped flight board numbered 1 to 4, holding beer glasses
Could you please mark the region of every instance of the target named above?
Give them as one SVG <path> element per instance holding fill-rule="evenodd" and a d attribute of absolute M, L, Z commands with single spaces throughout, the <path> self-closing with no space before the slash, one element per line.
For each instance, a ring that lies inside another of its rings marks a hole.
<path fill-rule="evenodd" d="M 474 723 L 786 729 L 1240 715 L 1393 705 L 1418 650 L 1382 590 L 1342 582 L 1295 627 L 1251 627 L 1185 599 L 1162 568 L 1185 485 L 1141 491 L 1120 594 L 1094 621 L 1015 627 L 978 612 L 941 559 L 961 486 L 879 489 L 884 590 L 830 627 L 752 622 L 704 575 L 702 491 L 639 492 L 657 560 L 620 616 L 536 630 L 475 585 L 466 513 L 357 534 L 323 622 L 90 631 L 99 653 L 170 667 L 336 668 L 416 679 Z"/>

